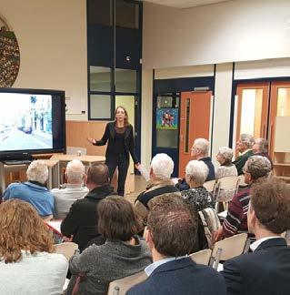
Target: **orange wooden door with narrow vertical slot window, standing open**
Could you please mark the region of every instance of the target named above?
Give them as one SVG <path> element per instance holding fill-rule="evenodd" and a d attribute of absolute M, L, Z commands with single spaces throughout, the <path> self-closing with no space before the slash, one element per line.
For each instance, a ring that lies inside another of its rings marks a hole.
<path fill-rule="evenodd" d="M 192 160 L 191 148 L 195 138 L 209 139 L 212 92 L 182 92 L 179 134 L 179 177 L 185 177 L 185 167 Z"/>

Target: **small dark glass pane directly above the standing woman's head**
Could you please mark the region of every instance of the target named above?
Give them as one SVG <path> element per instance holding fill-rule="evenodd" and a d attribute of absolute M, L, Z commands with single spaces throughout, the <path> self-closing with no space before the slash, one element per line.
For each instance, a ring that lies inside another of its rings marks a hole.
<path fill-rule="evenodd" d="M 115 91 L 136 92 L 137 72 L 135 70 L 115 69 Z"/>

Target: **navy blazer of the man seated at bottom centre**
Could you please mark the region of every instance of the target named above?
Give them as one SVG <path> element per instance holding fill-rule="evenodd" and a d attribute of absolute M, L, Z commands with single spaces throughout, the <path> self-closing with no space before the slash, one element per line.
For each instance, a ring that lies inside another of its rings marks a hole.
<path fill-rule="evenodd" d="M 147 280 L 128 290 L 127 295 L 226 295 L 225 280 L 216 270 L 177 259 L 160 265 Z"/>

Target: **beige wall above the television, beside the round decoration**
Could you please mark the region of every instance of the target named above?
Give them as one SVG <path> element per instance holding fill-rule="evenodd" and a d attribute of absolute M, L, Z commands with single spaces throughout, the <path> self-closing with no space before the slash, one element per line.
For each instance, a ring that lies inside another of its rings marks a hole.
<path fill-rule="evenodd" d="M 0 7 L 20 47 L 14 87 L 65 90 L 67 114 L 75 114 L 66 119 L 86 120 L 85 0 L 0 0 Z"/>

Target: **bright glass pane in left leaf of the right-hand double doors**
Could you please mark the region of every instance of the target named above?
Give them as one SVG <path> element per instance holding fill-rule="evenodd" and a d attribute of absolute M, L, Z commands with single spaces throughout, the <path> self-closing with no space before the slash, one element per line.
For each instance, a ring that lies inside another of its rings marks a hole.
<path fill-rule="evenodd" d="M 262 89 L 243 90 L 240 134 L 247 133 L 253 135 L 254 137 L 260 137 L 262 103 Z"/>

